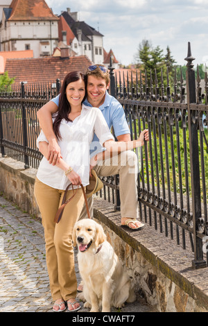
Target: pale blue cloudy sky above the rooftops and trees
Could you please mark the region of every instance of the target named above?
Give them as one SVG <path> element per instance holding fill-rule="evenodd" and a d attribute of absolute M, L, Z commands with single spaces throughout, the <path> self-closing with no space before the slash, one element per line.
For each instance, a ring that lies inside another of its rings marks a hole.
<path fill-rule="evenodd" d="M 178 65 L 186 65 L 191 42 L 194 65 L 208 65 L 208 0 L 46 0 L 55 14 L 67 7 L 80 21 L 98 29 L 106 51 L 123 64 L 134 62 L 142 40 L 166 53 L 169 46 Z"/>

